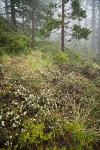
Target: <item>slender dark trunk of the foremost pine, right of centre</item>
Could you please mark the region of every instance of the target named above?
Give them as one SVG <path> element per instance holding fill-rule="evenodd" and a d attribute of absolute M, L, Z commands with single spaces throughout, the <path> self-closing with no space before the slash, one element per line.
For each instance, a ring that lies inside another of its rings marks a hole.
<path fill-rule="evenodd" d="M 64 0 L 62 0 L 61 51 L 64 52 Z"/>

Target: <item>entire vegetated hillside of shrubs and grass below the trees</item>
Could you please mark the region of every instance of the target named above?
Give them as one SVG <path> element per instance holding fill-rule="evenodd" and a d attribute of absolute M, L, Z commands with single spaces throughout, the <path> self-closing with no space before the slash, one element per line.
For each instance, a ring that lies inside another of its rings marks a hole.
<path fill-rule="evenodd" d="M 58 43 L 32 51 L 3 18 L 0 33 L 1 150 L 97 149 L 100 65 Z"/>

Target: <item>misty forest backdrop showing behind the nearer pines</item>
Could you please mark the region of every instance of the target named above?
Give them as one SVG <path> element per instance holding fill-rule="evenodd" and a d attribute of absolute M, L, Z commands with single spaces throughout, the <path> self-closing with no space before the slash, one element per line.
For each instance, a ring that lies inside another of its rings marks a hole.
<path fill-rule="evenodd" d="M 30 2 L 29 2 L 30 3 Z M 58 8 L 50 7 L 51 14 L 54 18 L 59 18 L 61 15 L 61 6 L 60 0 L 41 0 L 41 6 L 43 5 L 45 8 L 49 7 L 53 4 L 59 4 Z M 18 30 L 21 30 L 24 32 L 25 35 L 30 37 L 31 35 L 31 28 L 32 23 L 30 21 L 30 17 L 27 17 L 27 13 L 29 12 L 29 8 L 26 9 L 28 12 L 23 15 L 21 12 L 22 8 L 18 6 L 20 4 L 16 4 L 16 20 L 17 20 L 17 26 Z M 65 6 L 65 9 L 70 8 L 70 4 L 67 3 Z M 73 24 L 81 25 L 82 27 L 88 28 L 91 31 L 91 34 L 89 35 L 87 40 L 84 39 L 75 39 L 71 38 L 71 30 L 68 28 L 65 28 L 65 32 L 68 32 L 68 34 L 65 34 L 65 45 L 70 46 L 71 48 L 77 49 L 77 51 L 85 54 L 86 51 L 90 51 L 90 53 L 97 54 L 100 53 L 100 0 L 82 0 L 81 1 L 81 7 L 86 10 L 86 18 L 84 19 L 69 19 L 70 26 Z M 37 9 L 38 10 L 38 9 Z M 20 13 L 19 13 L 19 12 Z M 71 10 L 68 10 L 68 12 Z M 24 12 L 25 13 L 25 12 Z M 41 12 L 42 14 L 43 12 Z M 44 13 L 47 13 L 46 11 Z M 11 8 L 10 8 L 10 0 L 0 0 L 0 15 L 7 18 L 8 20 L 11 20 Z M 38 14 L 40 15 L 40 14 Z M 47 14 L 46 14 L 47 15 Z M 40 28 L 42 26 L 42 21 L 37 21 L 35 23 L 35 26 Z M 23 27 L 23 25 L 25 27 Z M 27 32 L 28 30 L 28 32 Z M 50 31 L 49 36 L 45 37 L 45 40 L 50 42 L 60 42 L 61 39 L 61 28 L 53 29 Z M 39 37 L 36 38 L 36 40 L 40 40 Z"/>

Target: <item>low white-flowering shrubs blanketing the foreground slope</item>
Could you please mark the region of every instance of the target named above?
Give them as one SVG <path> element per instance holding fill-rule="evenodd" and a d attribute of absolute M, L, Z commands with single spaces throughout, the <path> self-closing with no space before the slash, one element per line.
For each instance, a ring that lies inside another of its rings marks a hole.
<path fill-rule="evenodd" d="M 27 129 L 27 132 L 24 130 L 26 120 L 35 123 L 37 130 L 39 124 L 40 126 L 41 123 L 44 124 L 43 128 L 40 129 L 41 132 L 43 129 L 45 136 L 48 137 L 48 134 L 52 133 L 50 134 L 52 135 L 51 141 L 47 139 L 46 143 L 42 141 L 40 143 L 40 147 L 47 147 L 48 149 L 54 146 L 57 147 L 57 150 L 59 147 L 63 149 L 63 146 L 66 146 L 68 142 L 67 147 L 70 149 L 72 146 L 77 147 L 76 142 L 80 143 L 81 132 L 77 133 L 78 135 L 74 140 L 74 134 L 70 131 L 71 128 L 74 132 L 74 125 L 72 126 L 70 122 L 75 120 L 81 121 L 86 131 L 88 129 L 92 131 L 93 128 L 98 130 L 97 122 L 97 126 L 96 123 L 94 126 L 95 118 L 93 115 L 96 114 L 94 108 L 96 110 L 97 100 L 99 101 L 99 89 L 94 83 L 74 71 L 64 74 L 59 69 L 45 68 L 42 72 L 39 70 L 32 72 L 25 70 L 25 66 L 27 65 L 24 64 L 24 66 L 18 67 L 17 62 L 13 63 L 10 59 L 9 67 L 6 64 L 1 66 L 1 148 L 11 149 L 11 147 L 16 147 L 22 149 L 22 147 L 27 147 L 27 143 L 29 147 L 32 144 L 34 145 L 33 138 L 31 139 L 29 136 L 25 138 L 25 133 L 31 134 L 29 129 Z M 64 126 L 66 123 L 70 125 L 70 128 L 68 127 L 65 131 Z M 27 127 L 29 128 L 29 126 Z M 22 131 L 25 131 L 22 139 L 25 142 L 20 143 L 19 139 L 22 138 Z M 89 137 L 88 142 L 91 143 L 91 136 Z M 65 138 L 66 140 L 64 140 Z M 74 140 L 75 144 L 72 145 L 71 139 Z M 44 141 L 44 139 L 42 140 Z M 80 147 L 85 147 L 87 138 L 82 140 L 83 145 L 80 143 Z"/>

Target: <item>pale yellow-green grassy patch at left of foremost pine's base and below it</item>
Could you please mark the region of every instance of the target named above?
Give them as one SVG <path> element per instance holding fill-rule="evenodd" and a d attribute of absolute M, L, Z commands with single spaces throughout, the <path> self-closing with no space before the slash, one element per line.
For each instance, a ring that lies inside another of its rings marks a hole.
<path fill-rule="evenodd" d="M 33 59 L 34 56 L 34 59 Z M 43 70 L 43 68 L 55 68 L 56 65 L 63 65 L 68 62 L 68 55 L 58 49 L 49 50 L 44 47 L 43 50 L 35 50 L 32 56 L 28 56 L 28 64 L 33 70 Z"/>

